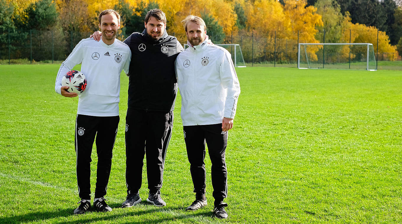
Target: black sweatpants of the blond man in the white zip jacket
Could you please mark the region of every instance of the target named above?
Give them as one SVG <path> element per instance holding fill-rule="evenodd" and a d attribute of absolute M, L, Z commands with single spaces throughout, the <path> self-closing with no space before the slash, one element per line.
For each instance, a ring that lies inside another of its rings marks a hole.
<path fill-rule="evenodd" d="M 226 198 L 228 195 L 228 174 L 225 162 L 225 150 L 228 144 L 228 132 L 222 131 L 222 123 L 213 125 L 183 126 L 187 156 L 190 162 L 194 192 L 206 193 L 205 142 L 211 159 L 211 178 L 214 198 Z"/>

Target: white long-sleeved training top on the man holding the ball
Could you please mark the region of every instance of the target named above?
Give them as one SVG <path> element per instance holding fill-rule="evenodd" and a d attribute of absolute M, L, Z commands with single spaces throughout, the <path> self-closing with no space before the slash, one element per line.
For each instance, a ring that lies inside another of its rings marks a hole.
<path fill-rule="evenodd" d="M 131 50 L 115 39 L 111 45 L 102 39 L 82 39 L 57 72 L 55 91 L 61 94 L 62 78 L 74 66 L 82 63 L 81 72 L 87 86 L 78 95 L 77 113 L 99 117 L 119 115 L 120 73 L 129 72 Z"/>

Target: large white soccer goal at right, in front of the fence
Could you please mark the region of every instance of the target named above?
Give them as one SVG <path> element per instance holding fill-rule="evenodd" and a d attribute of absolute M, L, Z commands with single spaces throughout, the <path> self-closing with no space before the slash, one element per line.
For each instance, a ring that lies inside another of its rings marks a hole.
<path fill-rule="evenodd" d="M 377 71 L 377 63 L 370 43 L 299 43 L 297 68 Z"/>

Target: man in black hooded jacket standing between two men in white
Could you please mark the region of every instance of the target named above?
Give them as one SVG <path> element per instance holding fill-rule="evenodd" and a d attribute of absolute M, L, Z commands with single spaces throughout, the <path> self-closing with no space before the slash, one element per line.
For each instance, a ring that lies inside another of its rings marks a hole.
<path fill-rule="evenodd" d="M 141 202 L 139 189 L 145 154 L 150 190 L 147 201 L 155 206 L 166 205 L 160 188 L 177 94 L 174 62 L 184 50 L 176 37 L 166 33 L 162 10 L 150 10 L 144 24 L 142 33 L 134 32 L 124 41 L 132 56 L 125 126 L 127 198 L 123 208 Z M 100 38 L 98 32 L 94 38 Z"/>

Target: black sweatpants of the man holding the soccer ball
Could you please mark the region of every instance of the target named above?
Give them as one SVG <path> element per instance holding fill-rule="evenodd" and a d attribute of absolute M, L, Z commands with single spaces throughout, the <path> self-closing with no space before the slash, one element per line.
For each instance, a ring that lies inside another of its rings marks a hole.
<path fill-rule="evenodd" d="M 119 116 L 97 117 L 77 114 L 75 129 L 77 183 L 78 194 L 82 200 L 91 199 L 90 163 L 95 135 L 98 155 L 95 198 L 103 198 L 106 195 L 119 120 Z"/>

